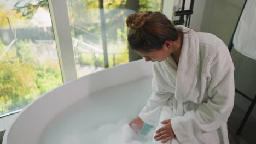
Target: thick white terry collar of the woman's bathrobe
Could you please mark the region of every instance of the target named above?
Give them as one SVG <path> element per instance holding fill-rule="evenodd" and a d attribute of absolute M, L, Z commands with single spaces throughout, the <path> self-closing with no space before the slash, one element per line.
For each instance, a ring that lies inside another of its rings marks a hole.
<path fill-rule="evenodd" d="M 183 44 L 176 77 L 175 98 L 185 102 L 191 97 L 199 73 L 199 39 L 192 29 L 179 25 L 182 31 Z"/>

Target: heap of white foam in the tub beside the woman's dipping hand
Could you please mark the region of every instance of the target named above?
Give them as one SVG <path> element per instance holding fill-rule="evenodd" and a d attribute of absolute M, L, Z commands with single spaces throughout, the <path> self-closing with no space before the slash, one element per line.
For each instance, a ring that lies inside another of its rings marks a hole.
<path fill-rule="evenodd" d="M 152 143 L 154 129 L 147 135 L 136 133 L 127 119 L 122 119 L 118 123 L 101 125 L 95 130 L 84 133 L 84 143 L 91 144 L 149 144 Z"/>

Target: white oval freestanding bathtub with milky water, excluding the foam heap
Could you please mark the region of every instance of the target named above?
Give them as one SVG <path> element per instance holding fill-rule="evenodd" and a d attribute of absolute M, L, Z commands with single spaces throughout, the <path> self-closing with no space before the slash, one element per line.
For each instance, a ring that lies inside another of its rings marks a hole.
<path fill-rule="evenodd" d="M 86 129 L 135 118 L 147 103 L 151 80 L 152 62 L 139 60 L 65 83 L 27 105 L 3 144 L 65 143 Z"/>

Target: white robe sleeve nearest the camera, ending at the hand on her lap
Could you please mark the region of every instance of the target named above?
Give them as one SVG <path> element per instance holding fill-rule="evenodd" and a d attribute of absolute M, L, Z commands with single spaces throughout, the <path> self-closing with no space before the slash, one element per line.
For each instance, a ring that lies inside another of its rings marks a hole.
<path fill-rule="evenodd" d="M 176 138 L 193 143 L 203 133 L 217 130 L 227 122 L 234 106 L 234 65 L 226 46 L 213 53 L 208 64 L 208 100 L 197 109 L 171 119 Z"/>

